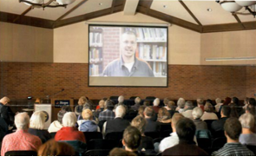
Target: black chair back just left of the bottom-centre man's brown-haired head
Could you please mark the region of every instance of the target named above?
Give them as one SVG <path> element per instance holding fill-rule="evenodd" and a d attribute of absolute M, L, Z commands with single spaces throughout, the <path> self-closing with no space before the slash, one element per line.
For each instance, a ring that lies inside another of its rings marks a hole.
<path fill-rule="evenodd" d="M 95 139 L 88 143 L 88 150 L 104 149 L 112 150 L 119 146 L 119 141 Z"/>

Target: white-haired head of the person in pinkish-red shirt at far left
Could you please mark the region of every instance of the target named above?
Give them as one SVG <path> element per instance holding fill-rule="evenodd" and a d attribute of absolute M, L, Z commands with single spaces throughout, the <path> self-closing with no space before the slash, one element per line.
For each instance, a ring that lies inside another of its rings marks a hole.
<path fill-rule="evenodd" d="M 23 112 L 20 114 L 16 114 L 15 116 L 15 125 L 17 129 L 28 129 L 30 125 L 30 116 L 29 114 Z"/>

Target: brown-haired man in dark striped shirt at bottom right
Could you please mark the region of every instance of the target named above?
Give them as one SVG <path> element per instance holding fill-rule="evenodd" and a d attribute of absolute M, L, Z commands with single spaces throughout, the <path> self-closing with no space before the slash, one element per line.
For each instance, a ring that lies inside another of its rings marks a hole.
<path fill-rule="evenodd" d="M 213 152 L 212 156 L 254 156 L 253 152 L 239 142 L 242 133 L 240 121 L 229 118 L 226 120 L 224 129 L 227 143 L 220 150 Z"/>

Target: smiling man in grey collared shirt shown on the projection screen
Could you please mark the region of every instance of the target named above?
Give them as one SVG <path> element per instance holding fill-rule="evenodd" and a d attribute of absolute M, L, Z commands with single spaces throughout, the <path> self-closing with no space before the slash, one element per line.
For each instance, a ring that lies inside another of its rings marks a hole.
<path fill-rule="evenodd" d="M 154 77 L 154 73 L 148 62 L 135 56 L 137 49 L 136 35 L 127 31 L 121 36 L 121 57 L 110 62 L 103 71 L 103 76 L 123 77 Z"/>

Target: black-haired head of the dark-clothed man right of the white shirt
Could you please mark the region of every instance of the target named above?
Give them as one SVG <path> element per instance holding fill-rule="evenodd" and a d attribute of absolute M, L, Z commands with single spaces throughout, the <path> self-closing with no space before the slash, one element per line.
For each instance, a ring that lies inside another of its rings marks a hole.
<path fill-rule="evenodd" d="M 194 141 L 196 127 L 194 121 L 183 118 L 176 124 L 176 132 L 179 136 L 180 141 Z"/>

